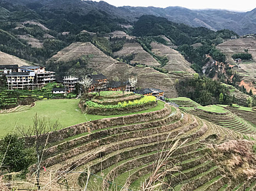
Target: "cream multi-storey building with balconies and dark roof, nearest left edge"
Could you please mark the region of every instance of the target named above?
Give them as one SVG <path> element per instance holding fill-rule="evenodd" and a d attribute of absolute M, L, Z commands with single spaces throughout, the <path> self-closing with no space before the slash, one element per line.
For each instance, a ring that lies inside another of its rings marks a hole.
<path fill-rule="evenodd" d="M 8 89 L 35 88 L 35 72 L 12 72 L 6 75 Z"/>

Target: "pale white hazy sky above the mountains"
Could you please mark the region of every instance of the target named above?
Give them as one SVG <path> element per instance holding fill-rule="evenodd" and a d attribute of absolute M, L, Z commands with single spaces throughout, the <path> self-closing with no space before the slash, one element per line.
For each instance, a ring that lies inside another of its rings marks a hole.
<path fill-rule="evenodd" d="M 180 6 L 189 9 L 227 9 L 236 11 L 249 11 L 256 8 L 256 0 L 236 1 L 236 0 L 104 0 L 116 7 L 129 5 L 133 7 L 162 7 Z"/>

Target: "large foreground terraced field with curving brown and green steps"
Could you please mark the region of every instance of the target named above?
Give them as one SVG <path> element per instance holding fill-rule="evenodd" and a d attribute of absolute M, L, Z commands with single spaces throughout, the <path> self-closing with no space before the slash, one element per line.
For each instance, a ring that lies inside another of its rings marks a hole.
<path fill-rule="evenodd" d="M 65 180 L 72 189 L 83 190 L 89 169 L 88 190 L 139 190 L 141 182 L 149 179 L 160 153 L 168 152 L 178 139 L 186 142 L 172 155 L 172 162 L 180 166 L 179 173 L 169 176 L 174 190 L 233 190 L 243 184 L 247 190 L 255 189 L 255 178 L 234 182 L 211 158 L 212 148 L 207 146 L 242 139 L 242 134 L 168 104 L 146 114 L 78 124 L 59 134 L 58 142 L 49 138 L 52 146 L 42 162 L 47 169 L 42 189 L 58 187 L 56 182 Z"/>

